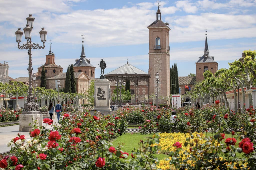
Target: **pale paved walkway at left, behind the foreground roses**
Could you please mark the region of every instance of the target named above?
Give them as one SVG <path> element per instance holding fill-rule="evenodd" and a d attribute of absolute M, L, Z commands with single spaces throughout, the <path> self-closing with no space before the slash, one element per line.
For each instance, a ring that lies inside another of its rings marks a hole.
<path fill-rule="evenodd" d="M 55 122 L 58 122 L 57 115 L 55 116 L 54 123 Z M 46 125 L 47 124 L 43 123 L 43 126 Z M 50 127 L 50 125 L 47 125 L 47 129 Z M 20 135 L 25 135 L 26 139 L 30 137 L 29 132 L 19 131 L 19 125 L 0 127 L 0 153 L 7 152 L 11 149 L 10 147 L 7 147 L 6 144 L 13 138 L 16 138 L 18 136 L 18 133 Z"/>

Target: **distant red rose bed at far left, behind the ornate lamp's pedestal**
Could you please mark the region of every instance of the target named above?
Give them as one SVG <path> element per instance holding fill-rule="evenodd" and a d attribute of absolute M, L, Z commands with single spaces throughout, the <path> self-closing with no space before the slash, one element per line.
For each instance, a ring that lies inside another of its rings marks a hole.
<path fill-rule="evenodd" d="M 0 122 L 18 121 L 21 111 L 16 110 L 0 110 Z"/>

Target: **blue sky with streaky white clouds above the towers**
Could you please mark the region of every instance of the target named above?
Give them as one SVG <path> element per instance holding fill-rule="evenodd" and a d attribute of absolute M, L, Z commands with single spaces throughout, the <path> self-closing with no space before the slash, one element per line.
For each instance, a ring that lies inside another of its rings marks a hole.
<path fill-rule="evenodd" d="M 170 67 L 177 63 L 178 75 L 196 73 L 204 54 L 205 29 L 210 55 L 228 68 L 244 50 L 256 47 L 256 0 L 185 0 L 159 2 L 162 21 L 168 22 Z M 82 34 L 86 58 L 100 77 L 99 63 L 106 61 L 105 73 L 127 63 L 148 72 L 149 30 L 156 20 L 156 0 L 12 0 L 0 1 L 0 63 L 9 64 L 9 76 L 28 77 L 28 54 L 18 49 L 15 31 L 26 27 L 29 14 L 35 17 L 32 43 L 39 43 L 39 31 L 48 31 L 46 47 L 32 49 L 33 73 L 55 54 L 55 63 L 67 71 L 80 58 Z M 51 40 L 51 41 L 49 41 Z M 25 43 L 25 36 L 21 45 Z"/>

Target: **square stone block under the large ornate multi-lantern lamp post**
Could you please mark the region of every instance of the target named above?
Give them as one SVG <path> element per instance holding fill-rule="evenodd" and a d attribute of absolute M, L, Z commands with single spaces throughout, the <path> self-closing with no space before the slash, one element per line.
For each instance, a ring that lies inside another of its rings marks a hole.
<path fill-rule="evenodd" d="M 38 120 L 37 124 L 42 126 L 43 115 L 40 114 L 40 111 L 23 111 L 22 114 L 19 115 L 19 131 L 29 132 L 32 130 L 32 124 L 35 120 Z"/>

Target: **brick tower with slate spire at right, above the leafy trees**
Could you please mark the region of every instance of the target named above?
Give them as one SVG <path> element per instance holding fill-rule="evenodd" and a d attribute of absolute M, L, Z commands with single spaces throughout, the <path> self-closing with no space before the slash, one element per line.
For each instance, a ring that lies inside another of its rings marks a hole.
<path fill-rule="evenodd" d="M 206 34 L 204 55 L 199 57 L 199 60 L 196 62 L 196 81 L 204 80 L 204 72 L 207 70 L 210 70 L 213 74 L 218 71 L 218 63 L 214 60 L 214 56 L 211 56 L 209 53 Z"/>

